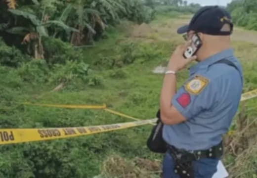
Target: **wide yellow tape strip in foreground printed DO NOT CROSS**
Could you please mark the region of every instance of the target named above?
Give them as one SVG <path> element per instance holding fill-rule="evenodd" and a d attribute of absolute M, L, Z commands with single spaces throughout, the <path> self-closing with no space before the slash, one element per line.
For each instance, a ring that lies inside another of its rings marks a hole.
<path fill-rule="evenodd" d="M 74 128 L 43 128 L 43 129 L 0 129 L 0 145 L 53 140 L 60 138 L 77 137 L 89 134 L 98 134 L 132 127 L 143 126 L 156 122 L 156 119 L 141 120 L 128 123 L 74 127 Z"/>

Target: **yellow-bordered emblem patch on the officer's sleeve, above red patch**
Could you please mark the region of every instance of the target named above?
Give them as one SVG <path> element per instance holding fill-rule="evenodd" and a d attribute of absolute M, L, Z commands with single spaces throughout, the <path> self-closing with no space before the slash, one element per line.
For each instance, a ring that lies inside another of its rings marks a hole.
<path fill-rule="evenodd" d="M 195 76 L 185 85 L 185 90 L 192 94 L 200 94 L 209 84 L 209 79 L 203 76 Z"/>

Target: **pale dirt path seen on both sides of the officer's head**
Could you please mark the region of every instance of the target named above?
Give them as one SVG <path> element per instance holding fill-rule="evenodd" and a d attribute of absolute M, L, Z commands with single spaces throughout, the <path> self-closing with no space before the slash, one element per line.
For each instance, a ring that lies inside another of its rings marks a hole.
<path fill-rule="evenodd" d="M 166 20 L 155 20 L 151 24 L 142 24 L 135 27 L 132 36 L 135 38 L 144 38 L 148 40 L 173 40 L 181 42 L 183 39 L 176 34 L 178 27 L 187 24 L 190 16 L 181 16 L 179 18 L 171 18 Z M 249 42 L 257 45 L 257 31 L 244 30 L 236 27 L 232 35 L 233 41 Z"/>

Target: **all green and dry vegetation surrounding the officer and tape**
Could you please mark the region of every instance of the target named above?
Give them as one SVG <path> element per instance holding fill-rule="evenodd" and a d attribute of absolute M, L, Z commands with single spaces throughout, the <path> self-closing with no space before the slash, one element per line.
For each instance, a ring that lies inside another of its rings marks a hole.
<path fill-rule="evenodd" d="M 160 29 L 153 27 L 151 34 L 134 38 L 121 31 L 118 24 L 123 25 L 125 19 L 140 24 L 154 17 L 152 8 L 138 0 L 0 1 L 0 127 L 77 127 L 130 121 L 102 110 L 19 104 L 24 101 L 106 103 L 139 119 L 153 118 L 163 76 L 152 70 L 167 64 L 171 51 L 182 42 L 165 39 L 166 31 L 161 28 L 169 27 L 170 35 L 176 20 L 171 16 L 178 15 L 172 14 L 174 8 L 179 14 L 191 8 L 190 4 L 182 4 L 182 8 L 180 1 L 164 3 L 169 4 L 165 7 L 168 18 L 163 14 L 149 25 Z M 158 13 L 164 8 L 159 5 L 155 8 Z M 20 30 L 22 33 L 14 33 Z M 160 35 L 154 36 L 157 33 Z M 256 89 L 257 46 L 242 42 L 233 45 L 245 71 L 244 91 Z M 188 71 L 179 73 L 178 87 L 187 75 Z M 231 178 L 256 178 L 255 108 L 256 99 L 247 101 L 245 107 L 241 105 L 241 114 L 231 127 L 237 134 L 226 138 L 224 161 Z M 151 129 L 144 126 L 79 138 L 3 145 L 0 178 L 157 178 L 161 175 L 162 156 L 146 147 Z"/>

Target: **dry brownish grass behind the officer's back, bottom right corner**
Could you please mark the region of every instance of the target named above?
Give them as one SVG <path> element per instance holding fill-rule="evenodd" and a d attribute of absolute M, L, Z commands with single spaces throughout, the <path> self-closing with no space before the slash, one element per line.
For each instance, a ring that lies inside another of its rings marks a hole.
<path fill-rule="evenodd" d="M 225 136 L 225 156 L 234 158 L 227 165 L 230 178 L 255 178 L 256 174 L 253 173 L 257 173 L 257 118 L 250 119 L 243 106 L 236 121 L 235 134 Z"/>

